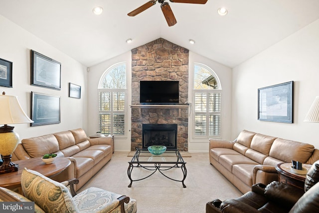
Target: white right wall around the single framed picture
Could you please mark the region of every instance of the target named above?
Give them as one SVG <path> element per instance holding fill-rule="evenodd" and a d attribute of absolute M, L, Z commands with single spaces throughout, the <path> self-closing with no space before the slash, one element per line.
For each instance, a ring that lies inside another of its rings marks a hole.
<path fill-rule="evenodd" d="M 232 138 L 243 130 L 313 144 L 319 123 L 304 118 L 319 95 L 319 20 L 233 69 Z M 257 89 L 294 81 L 294 123 L 257 119 Z"/>

